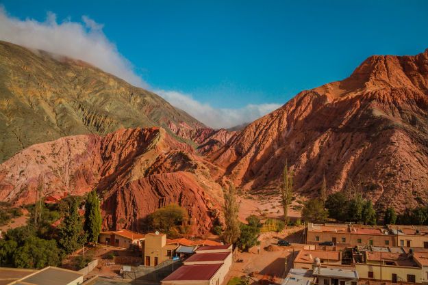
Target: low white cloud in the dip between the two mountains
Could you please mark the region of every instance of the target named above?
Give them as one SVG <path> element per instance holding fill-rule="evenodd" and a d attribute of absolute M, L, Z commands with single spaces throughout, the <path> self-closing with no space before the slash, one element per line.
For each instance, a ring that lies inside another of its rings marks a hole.
<path fill-rule="evenodd" d="M 281 107 L 279 104 L 249 104 L 240 109 L 215 109 L 210 105 L 194 100 L 192 96 L 177 91 L 155 90 L 171 105 L 178 107 L 207 126 L 213 128 L 230 128 L 248 122 L 253 122 L 267 113 Z"/>

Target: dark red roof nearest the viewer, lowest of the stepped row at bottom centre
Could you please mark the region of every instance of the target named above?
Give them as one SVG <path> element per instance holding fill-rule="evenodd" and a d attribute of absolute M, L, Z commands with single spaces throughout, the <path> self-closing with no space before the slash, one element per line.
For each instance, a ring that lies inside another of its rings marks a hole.
<path fill-rule="evenodd" d="M 210 280 L 223 264 L 182 265 L 162 281 Z"/>

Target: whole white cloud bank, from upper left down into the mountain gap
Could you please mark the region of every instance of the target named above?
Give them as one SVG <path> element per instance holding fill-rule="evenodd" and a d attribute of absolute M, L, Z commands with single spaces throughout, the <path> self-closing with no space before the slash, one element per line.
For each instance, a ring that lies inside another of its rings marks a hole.
<path fill-rule="evenodd" d="M 115 44 L 108 40 L 102 29 L 102 24 L 88 16 L 82 16 L 81 22 L 67 19 L 58 23 L 56 15 L 51 12 L 47 13 L 44 22 L 29 18 L 21 21 L 9 16 L 0 5 L 0 40 L 81 59 L 133 85 L 153 90 L 153 87 L 134 72 L 131 63 L 118 52 Z M 168 90 L 155 92 L 168 100 L 171 105 L 183 109 L 213 128 L 229 128 L 252 122 L 280 106 L 249 104 L 240 109 L 216 109 L 181 92 Z"/>

